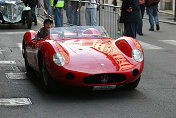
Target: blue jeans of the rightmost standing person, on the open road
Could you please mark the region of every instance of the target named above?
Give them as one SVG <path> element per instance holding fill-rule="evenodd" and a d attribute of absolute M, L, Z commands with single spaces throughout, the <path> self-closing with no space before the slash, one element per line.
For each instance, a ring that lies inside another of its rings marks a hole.
<path fill-rule="evenodd" d="M 147 8 L 148 10 L 148 15 L 149 15 L 149 23 L 150 23 L 150 29 L 154 29 L 154 20 L 157 25 L 159 25 L 159 20 L 158 20 L 158 6 L 150 6 Z M 154 18 L 154 20 L 153 20 Z"/>

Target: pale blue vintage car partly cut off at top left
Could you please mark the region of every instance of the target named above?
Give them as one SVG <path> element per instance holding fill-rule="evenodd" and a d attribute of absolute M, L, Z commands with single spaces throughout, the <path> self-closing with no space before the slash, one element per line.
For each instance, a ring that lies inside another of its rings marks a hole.
<path fill-rule="evenodd" d="M 0 0 L 0 24 L 23 23 L 32 26 L 31 8 L 21 0 Z"/>

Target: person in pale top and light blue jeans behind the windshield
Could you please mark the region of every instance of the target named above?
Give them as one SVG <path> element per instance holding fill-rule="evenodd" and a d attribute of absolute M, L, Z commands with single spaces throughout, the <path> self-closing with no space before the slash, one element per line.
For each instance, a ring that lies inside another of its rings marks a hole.
<path fill-rule="evenodd" d="M 99 0 L 88 0 L 86 3 L 86 25 L 87 26 L 97 26 L 97 7 L 99 5 Z"/>

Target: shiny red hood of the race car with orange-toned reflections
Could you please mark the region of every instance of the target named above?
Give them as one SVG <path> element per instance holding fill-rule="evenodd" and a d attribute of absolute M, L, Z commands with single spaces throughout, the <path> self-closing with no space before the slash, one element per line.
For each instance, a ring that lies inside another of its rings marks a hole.
<path fill-rule="evenodd" d="M 66 69 L 88 73 L 113 73 L 134 67 L 112 39 L 73 39 L 57 41 L 68 53 Z"/>

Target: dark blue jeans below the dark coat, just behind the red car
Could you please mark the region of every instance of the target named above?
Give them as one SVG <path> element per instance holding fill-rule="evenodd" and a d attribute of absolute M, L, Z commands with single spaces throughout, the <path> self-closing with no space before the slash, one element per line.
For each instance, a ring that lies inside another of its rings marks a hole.
<path fill-rule="evenodd" d="M 136 38 L 137 25 L 138 23 L 124 23 L 125 36 Z"/>

